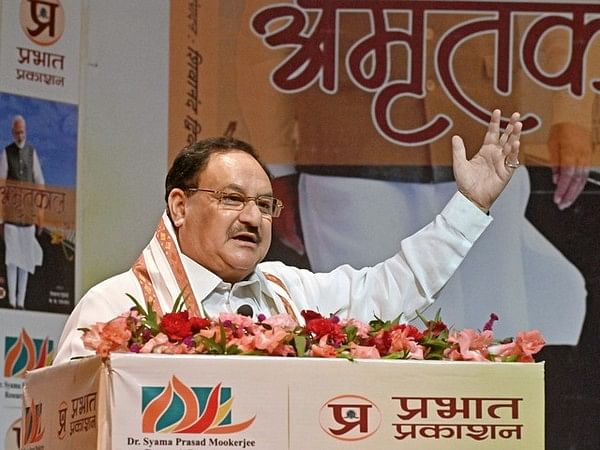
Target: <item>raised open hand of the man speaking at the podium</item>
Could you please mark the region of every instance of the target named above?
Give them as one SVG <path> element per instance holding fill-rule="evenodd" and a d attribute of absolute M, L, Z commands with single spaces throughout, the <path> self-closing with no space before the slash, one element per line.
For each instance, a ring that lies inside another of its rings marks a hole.
<path fill-rule="evenodd" d="M 513 113 L 506 129 L 500 133 L 501 113 L 494 110 L 483 145 L 470 160 L 466 158 L 463 140 L 459 136 L 452 137 L 458 190 L 486 213 L 519 166 L 519 139 L 523 127 L 519 117 L 519 113 Z"/>

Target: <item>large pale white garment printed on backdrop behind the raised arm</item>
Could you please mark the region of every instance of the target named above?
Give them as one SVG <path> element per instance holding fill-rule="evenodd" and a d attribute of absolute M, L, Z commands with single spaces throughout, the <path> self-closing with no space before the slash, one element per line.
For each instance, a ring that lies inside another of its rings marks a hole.
<path fill-rule="evenodd" d="M 585 280 L 525 218 L 530 183 L 515 172 L 492 207 L 494 223 L 436 302 L 456 328 L 481 329 L 490 313 L 498 337 L 539 329 L 551 344 L 576 345 L 585 318 Z M 434 217 L 456 184 L 405 183 L 302 174 L 302 230 L 314 270 L 381 261 L 402 236 Z"/>

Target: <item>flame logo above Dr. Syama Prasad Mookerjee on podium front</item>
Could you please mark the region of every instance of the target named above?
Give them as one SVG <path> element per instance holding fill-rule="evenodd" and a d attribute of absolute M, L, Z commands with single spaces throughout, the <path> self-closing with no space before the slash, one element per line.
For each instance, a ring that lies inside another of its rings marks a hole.
<path fill-rule="evenodd" d="M 172 376 L 166 387 L 142 387 L 142 432 L 229 434 L 248 428 L 256 416 L 232 423 L 231 388 L 189 387 Z"/>

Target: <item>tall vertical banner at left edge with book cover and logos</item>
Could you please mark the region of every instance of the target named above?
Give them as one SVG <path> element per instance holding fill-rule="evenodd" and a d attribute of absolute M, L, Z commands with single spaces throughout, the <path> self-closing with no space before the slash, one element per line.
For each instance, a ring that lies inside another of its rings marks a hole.
<path fill-rule="evenodd" d="M 0 448 L 74 306 L 80 0 L 0 1 Z M 50 432 L 50 431 L 48 431 Z"/>

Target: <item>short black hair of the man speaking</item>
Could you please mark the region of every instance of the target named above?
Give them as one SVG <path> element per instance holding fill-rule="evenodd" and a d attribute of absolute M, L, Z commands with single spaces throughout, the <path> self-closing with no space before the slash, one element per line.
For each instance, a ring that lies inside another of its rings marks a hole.
<path fill-rule="evenodd" d="M 175 157 L 165 180 L 165 202 L 168 202 L 169 194 L 175 188 L 185 190 L 196 187 L 198 176 L 206 168 L 213 154 L 232 151 L 241 151 L 252 156 L 270 178 L 269 171 L 258 157 L 257 151 L 247 142 L 229 137 L 203 139 L 184 148 Z"/>

